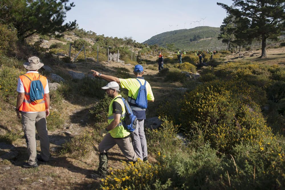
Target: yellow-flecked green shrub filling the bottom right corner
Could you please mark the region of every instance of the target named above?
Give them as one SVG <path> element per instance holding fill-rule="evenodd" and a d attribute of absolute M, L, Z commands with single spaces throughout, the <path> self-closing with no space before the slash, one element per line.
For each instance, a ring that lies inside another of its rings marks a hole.
<path fill-rule="evenodd" d="M 231 162 L 228 168 L 231 187 L 233 189 L 284 189 L 284 150 L 284 137 L 278 136 L 266 138 L 254 146 L 244 144 L 234 148 L 235 163 Z"/>

